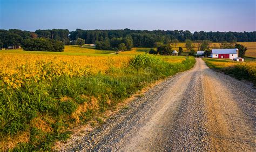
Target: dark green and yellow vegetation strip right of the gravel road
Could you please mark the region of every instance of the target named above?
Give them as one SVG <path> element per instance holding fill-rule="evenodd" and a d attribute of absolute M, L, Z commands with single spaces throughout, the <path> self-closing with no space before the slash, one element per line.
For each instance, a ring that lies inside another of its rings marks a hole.
<path fill-rule="evenodd" d="M 230 59 L 209 59 L 203 58 L 206 65 L 214 70 L 223 72 L 238 80 L 247 80 L 256 85 L 256 62 L 247 60 L 244 63 L 232 61 Z"/>

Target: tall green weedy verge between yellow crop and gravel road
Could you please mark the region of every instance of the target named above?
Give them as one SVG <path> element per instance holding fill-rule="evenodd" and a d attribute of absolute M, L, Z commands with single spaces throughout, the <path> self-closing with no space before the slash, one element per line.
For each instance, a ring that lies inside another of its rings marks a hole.
<path fill-rule="evenodd" d="M 152 82 L 190 69 L 195 62 L 187 57 L 169 63 L 140 54 L 125 67 L 112 66 L 104 73 L 28 79 L 18 88 L 1 80 L 1 149 L 51 150 L 56 140 L 68 139 L 67 130 L 73 125 L 89 121 Z M 52 73 L 51 67 L 43 65 L 44 72 Z"/>

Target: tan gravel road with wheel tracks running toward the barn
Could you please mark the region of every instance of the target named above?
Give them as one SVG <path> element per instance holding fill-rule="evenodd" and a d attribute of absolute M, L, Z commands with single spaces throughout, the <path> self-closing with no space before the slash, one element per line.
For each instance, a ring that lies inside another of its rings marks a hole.
<path fill-rule="evenodd" d="M 63 150 L 255 151 L 255 102 L 255 89 L 197 58 L 192 70 L 153 87 Z"/>

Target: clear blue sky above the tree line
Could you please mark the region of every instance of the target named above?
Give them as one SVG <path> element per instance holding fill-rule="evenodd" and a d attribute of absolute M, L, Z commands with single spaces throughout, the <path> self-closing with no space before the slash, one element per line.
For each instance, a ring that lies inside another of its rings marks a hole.
<path fill-rule="evenodd" d="M 256 31 L 256 0 L 0 0 L 0 29 Z"/>

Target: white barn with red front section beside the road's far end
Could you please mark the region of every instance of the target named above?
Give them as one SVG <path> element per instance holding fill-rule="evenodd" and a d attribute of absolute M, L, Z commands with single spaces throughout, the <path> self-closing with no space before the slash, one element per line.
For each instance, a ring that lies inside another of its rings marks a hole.
<path fill-rule="evenodd" d="M 211 58 L 231 59 L 238 57 L 238 49 L 212 49 Z"/>

